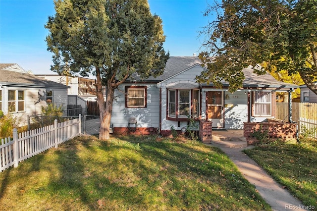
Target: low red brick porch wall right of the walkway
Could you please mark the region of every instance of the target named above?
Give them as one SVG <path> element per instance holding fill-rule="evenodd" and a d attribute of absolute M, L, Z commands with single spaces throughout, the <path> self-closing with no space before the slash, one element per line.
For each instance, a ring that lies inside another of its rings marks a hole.
<path fill-rule="evenodd" d="M 276 120 L 268 120 L 268 122 L 244 122 L 243 136 L 248 144 L 254 144 L 259 140 L 251 135 L 252 132 L 258 131 L 262 125 L 262 131 L 268 131 L 268 139 L 281 139 L 283 141 L 296 138 L 296 124 L 287 123 Z"/>

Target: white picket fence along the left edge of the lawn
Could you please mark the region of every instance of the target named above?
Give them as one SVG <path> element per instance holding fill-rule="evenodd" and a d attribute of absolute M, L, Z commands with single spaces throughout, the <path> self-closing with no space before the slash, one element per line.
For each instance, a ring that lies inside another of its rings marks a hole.
<path fill-rule="evenodd" d="M 57 148 L 58 144 L 68 141 L 81 135 L 81 114 L 79 118 L 57 123 L 39 129 L 17 132 L 13 129 L 11 137 L 1 139 L 0 145 L 0 172 L 14 166 L 19 162 L 42 153 L 52 147 Z"/>

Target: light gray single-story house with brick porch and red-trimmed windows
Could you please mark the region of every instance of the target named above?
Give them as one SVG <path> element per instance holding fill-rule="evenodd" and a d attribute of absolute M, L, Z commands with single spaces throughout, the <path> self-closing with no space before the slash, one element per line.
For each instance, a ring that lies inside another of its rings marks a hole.
<path fill-rule="evenodd" d="M 186 127 L 188 116 L 211 120 L 214 128 L 242 129 L 243 122 L 273 118 L 275 92 L 291 95 L 297 87 L 279 82 L 268 73 L 258 76 L 246 68 L 243 88 L 230 93 L 226 82 L 223 89 L 197 83 L 196 76 L 204 70 L 198 57 L 171 56 L 157 78 L 140 80 L 135 75 L 121 84 L 114 94 L 114 131 L 125 131 L 132 117 L 142 133 L 158 131 L 167 135 L 171 128 L 180 131 Z"/>

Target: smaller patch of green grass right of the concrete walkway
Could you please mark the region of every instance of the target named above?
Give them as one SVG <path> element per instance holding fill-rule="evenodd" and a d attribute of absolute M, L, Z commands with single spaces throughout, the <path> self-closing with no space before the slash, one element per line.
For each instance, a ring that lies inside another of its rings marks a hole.
<path fill-rule="evenodd" d="M 317 208 L 317 141 L 259 145 L 244 151 L 306 206 Z"/>

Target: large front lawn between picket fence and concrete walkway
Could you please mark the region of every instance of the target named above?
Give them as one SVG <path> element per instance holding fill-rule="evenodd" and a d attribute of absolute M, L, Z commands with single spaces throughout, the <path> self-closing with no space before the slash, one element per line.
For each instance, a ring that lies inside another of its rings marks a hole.
<path fill-rule="evenodd" d="M 82 136 L 0 173 L 1 210 L 270 210 L 217 148 Z"/>

